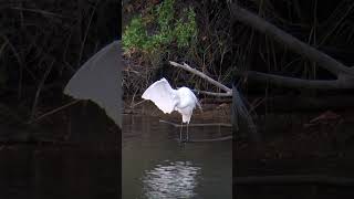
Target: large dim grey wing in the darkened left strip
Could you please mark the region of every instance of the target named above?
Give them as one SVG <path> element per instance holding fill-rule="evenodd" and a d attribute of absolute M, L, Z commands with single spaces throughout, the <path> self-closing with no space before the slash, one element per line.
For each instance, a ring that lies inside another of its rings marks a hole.
<path fill-rule="evenodd" d="M 64 88 L 66 95 L 98 104 L 119 127 L 123 67 L 121 53 L 119 41 L 106 45 L 79 69 Z"/>

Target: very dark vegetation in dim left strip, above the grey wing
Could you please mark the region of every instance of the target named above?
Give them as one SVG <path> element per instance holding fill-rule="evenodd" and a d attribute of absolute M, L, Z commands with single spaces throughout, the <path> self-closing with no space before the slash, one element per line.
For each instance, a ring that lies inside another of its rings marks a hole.
<path fill-rule="evenodd" d="M 70 77 L 119 35 L 118 6 L 115 1 L 3 2 L 0 117 L 11 121 L 17 115 L 27 123 L 62 105 Z"/>

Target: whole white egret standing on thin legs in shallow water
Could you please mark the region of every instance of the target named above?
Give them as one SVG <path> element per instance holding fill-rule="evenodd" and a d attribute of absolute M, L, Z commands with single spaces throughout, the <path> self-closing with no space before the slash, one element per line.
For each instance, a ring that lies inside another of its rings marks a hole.
<path fill-rule="evenodd" d="M 142 98 L 152 101 L 160 111 L 165 114 L 170 114 L 173 111 L 177 111 L 181 114 L 181 127 L 179 130 L 179 140 L 181 140 L 183 124 L 187 123 L 187 139 L 188 124 L 192 115 L 192 111 L 198 105 L 201 106 L 196 95 L 188 87 L 179 87 L 174 90 L 170 87 L 166 78 L 162 78 L 152 84 L 142 95 Z"/>

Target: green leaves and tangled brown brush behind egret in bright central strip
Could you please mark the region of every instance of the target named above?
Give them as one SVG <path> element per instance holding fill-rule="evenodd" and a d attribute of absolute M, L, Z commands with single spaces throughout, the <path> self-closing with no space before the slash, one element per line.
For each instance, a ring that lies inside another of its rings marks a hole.
<path fill-rule="evenodd" d="M 124 6 L 132 17 L 126 19 L 123 48 L 134 73 L 125 73 L 126 94 L 142 92 L 147 83 L 162 75 L 177 84 L 187 81 L 195 87 L 216 90 L 189 73 L 169 66 L 168 61 L 187 62 L 216 80 L 231 82 L 232 38 L 226 3 L 175 0 L 157 4 L 129 3 Z M 127 9 L 134 6 L 139 9 Z"/>

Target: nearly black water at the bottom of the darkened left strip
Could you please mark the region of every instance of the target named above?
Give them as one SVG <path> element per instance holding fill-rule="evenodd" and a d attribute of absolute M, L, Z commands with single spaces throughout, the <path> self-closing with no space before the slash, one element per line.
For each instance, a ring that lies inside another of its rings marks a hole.
<path fill-rule="evenodd" d="M 0 199 L 119 197 L 121 132 L 94 104 L 70 118 L 32 132 L 0 124 Z"/>

